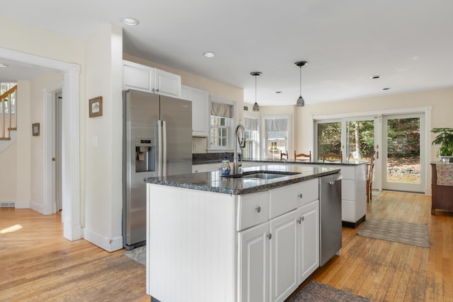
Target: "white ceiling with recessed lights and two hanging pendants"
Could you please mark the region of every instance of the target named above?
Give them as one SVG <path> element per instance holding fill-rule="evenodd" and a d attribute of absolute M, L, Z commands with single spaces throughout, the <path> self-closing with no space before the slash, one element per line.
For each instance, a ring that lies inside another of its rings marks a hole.
<path fill-rule="evenodd" d="M 306 104 L 451 87 L 452 14 L 450 0 L 16 0 L 0 12 L 81 40 L 121 26 L 124 52 L 243 88 L 247 103 L 261 71 L 260 105 L 296 103 L 302 60 Z"/>

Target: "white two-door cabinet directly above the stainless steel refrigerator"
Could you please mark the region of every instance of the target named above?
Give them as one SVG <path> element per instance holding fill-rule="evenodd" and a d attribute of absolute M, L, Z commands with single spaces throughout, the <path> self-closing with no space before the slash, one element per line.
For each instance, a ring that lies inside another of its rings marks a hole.
<path fill-rule="evenodd" d="M 181 97 L 181 77 L 150 66 L 122 61 L 123 89 Z"/>

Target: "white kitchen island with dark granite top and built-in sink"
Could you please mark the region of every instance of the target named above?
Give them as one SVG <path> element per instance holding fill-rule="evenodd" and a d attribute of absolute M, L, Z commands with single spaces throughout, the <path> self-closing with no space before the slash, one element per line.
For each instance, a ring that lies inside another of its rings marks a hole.
<path fill-rule="evenodd" d="M 242 178 L 145 179 L 151 301 L 285 301 L 319 267 L 319 178 L 339 172 L 271 164 Z"/>

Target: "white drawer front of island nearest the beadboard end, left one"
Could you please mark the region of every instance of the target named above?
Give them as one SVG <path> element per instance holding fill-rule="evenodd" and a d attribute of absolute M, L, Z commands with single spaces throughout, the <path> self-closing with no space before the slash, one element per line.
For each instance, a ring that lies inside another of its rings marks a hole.
<path fill-rule="evenodd" d="M 244 228 L 250 228 L 251 226 L 268 221 L 268 191 L 239 195 L 237 217 L 236 231 L 241 231 Z"/>

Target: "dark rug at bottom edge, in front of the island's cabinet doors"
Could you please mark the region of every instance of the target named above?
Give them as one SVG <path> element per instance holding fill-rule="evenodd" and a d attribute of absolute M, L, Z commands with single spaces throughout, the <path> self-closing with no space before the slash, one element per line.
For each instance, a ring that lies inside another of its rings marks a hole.
<path fill-rule="evenodd" d="M 318 281 L 309 281 L 304 288 L 302 288 L 297 294 L 290 298 L 287 302 L 305 302 L 305 301 L 317 301 L 317 302 L 362 302 L 371 301 L 361 296 L 349 294 L 340 289 L 335 289 L 327 284 L 319 283 Z"/>

